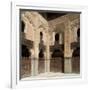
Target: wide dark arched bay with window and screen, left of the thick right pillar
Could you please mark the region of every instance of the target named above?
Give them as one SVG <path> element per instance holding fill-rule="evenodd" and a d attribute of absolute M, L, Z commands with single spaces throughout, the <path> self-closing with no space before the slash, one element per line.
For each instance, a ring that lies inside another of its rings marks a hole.
<path fill-rule="evenodd" d="M 59 44 L 59 33 L 55 34 L 55 43 L 50 61 L 51 72 L 64 72 L 64 54 Z"/>

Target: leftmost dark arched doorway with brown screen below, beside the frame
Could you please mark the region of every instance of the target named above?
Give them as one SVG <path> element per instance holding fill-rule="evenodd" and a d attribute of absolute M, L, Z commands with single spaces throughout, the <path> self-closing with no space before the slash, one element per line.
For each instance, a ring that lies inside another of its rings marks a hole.
<path fill-rule="evenodd" d="M 21 45 L 20 78 L 31 75 L 31 52 L 26 45 Z"/>

